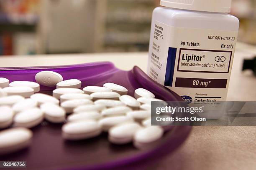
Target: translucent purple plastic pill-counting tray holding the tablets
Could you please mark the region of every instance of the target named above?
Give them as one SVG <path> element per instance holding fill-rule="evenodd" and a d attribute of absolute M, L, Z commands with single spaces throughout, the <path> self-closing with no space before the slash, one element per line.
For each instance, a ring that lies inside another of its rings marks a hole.
<path fill-rule="evenodd" d="M 10 82 L 35 81 L 36 73 L 44 70 L 58 72 L 64 80 L 79 79 L 82 81 L 82 87 L 102 86 L 106 82 L 113 82 L 126 87 L 128 94 L 132 96 L 135 89 L 145 88 L 162 100 L 182 100 L 175 92 L 151 80 L 139 67 L 123 71 L 111 62 L 56 67 L 0 68 L 0 77 L 6 77 Z M 41 92 L 51 93 L 52 90 L 53 87 L 41 86 Z M 61 126 L 62 124 L 44 121 L 32 128 L 34 135 L 31 147 L 2 155 L 0 161 L 27 161 L 28 170 L 146 169 L 165 155 L 173 153 L 191 131 L 190 126 L 174 126 L 152 148 L 138 150 L 132 144 L 110 144 L 107 133 L 90 140 L 65 141 L 61 138 Z"/>

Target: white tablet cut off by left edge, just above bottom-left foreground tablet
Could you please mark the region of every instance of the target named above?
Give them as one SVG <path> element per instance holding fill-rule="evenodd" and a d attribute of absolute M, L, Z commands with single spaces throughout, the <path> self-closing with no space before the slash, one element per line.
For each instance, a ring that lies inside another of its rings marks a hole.
<path fill-rule="evenodd" d="M 0 106 L 0 129 L 7 128 L 13 122 L 13 110 L 9 106 Z"/>

